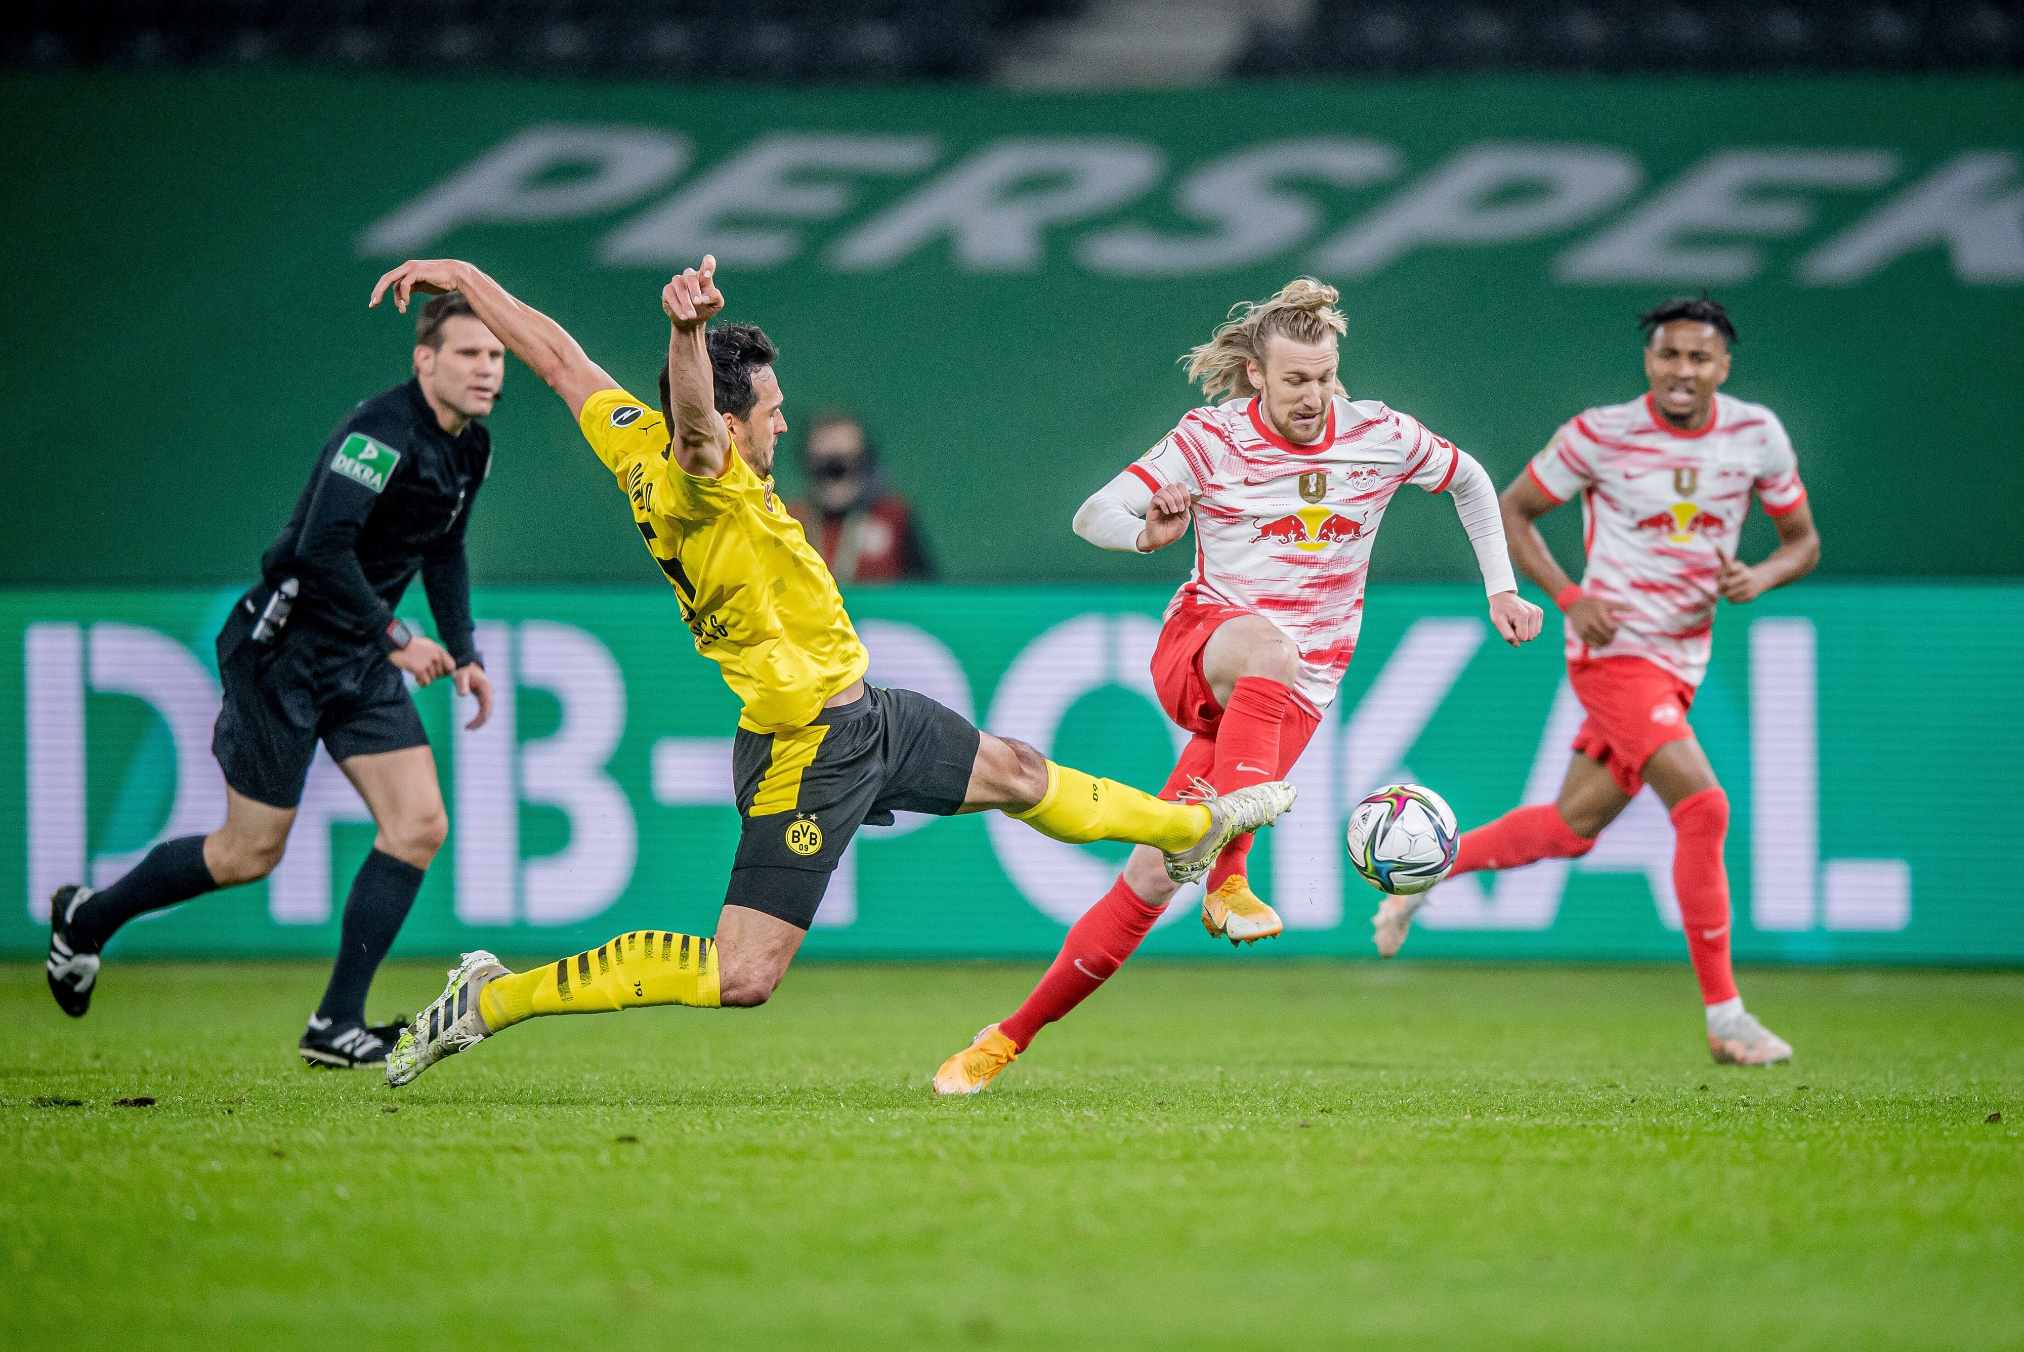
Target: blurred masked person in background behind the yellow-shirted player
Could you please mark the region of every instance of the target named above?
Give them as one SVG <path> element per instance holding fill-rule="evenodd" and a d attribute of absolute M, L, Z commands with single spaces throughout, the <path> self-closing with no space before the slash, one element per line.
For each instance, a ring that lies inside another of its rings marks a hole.
<path fill-rule="evenodd" d="M 852 413 L 816 415 L 802 443 L 808 498 L 787 504 L 838 583 L 931 581 L 913 508 L 884 486 L 878 453 Z"/>

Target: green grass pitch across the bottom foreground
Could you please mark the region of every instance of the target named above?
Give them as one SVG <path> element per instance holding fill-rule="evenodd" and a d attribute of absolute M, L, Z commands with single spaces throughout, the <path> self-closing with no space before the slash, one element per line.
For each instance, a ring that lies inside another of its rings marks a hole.
<path fill-rule="evenodd" d="M 2024 1346 L 2024 974 L 1745 971 L 1799 1059 L 1737 1071 L 1684 963 L 1140 963 L 935 1101 L 1034 974 L 393 1093 L 293 1061 L 320 967 L 113 963 L 83 1022 L 0 967 L 6 1346 Z"/>

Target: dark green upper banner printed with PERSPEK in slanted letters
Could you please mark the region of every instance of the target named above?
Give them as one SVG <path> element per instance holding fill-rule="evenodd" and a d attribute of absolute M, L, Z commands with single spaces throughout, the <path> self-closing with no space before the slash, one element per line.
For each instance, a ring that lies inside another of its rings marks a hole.
<path fill-rule="evenodd" d="M 0 581 L 245 577 L 330 427 L 407 374 L 368 312 L 478 261 L 648 393 L 658 289 L 714 251 L 789 423 L 864 411 L 961 583 L 1178 581 L 1057 546 L 1192 395 L 1233 302 L 1338 283 L 1344 376 L 1506 482 L 1641 393 L 1633 316 L 1712 287 L 1731 393 L 1791 429 L 1824 573 L 2016 575 L 2024 83 L 1425 79 L 1024 95 L 285 71 L 0 79 Z M 623 583 L 638 544 L 510 368 L 472 524 L 492 583 Z M 795 437 L 789 435 L 789 449 Z M 793 490 L 791 455 L 785 486 Z M 1401 502 L 1378 579 L 1465 579 Z M 1571 512 L 1548 520 L 1569 553 Z M 1769 548 L 1753 522 L 1745 555 Z"/>

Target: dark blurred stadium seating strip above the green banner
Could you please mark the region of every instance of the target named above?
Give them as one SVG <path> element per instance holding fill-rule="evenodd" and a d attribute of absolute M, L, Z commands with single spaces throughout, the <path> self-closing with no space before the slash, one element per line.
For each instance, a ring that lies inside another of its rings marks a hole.
<path fill-rule="evenodd" d="M 1206 8 L 1154 12 L 1200 24 Z M 1249 30 L 1227 63 L 1241 77 L 2024 67 L 2024 0 L 1227 0 L 1220 8 L 1243 24 L 1239 36 Z M 990 79 L 1036 26 L 1087 20 L 1144 32 L 1144 14 L 1133 0 L 113 0 L 16 10 L 0 20 L 0 63 Z"/>

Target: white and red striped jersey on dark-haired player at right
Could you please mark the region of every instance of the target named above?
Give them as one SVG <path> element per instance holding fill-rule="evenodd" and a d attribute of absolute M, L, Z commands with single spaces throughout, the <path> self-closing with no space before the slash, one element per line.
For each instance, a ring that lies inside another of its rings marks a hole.
<path fill-rule="evenodd" d="M 1737 555 L 1755 490 L 1771 516 L 1805 502 L 1791 439 L 1771 409 L 1714 397 L 1700 431 L 1680 431 L 1652 397 L 1589 409 L 1526 468 L 1554 502 L 1581 496 L 1589 565 L 1581 591 L 1617 611 L 1617 638 L 1569 658 L 1646 658 L 1698 686 L 1708 672 L 1718 555 Z"/>

